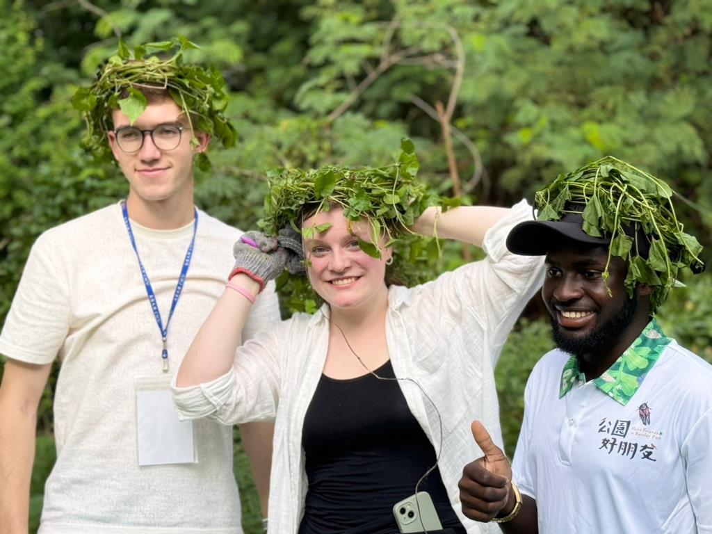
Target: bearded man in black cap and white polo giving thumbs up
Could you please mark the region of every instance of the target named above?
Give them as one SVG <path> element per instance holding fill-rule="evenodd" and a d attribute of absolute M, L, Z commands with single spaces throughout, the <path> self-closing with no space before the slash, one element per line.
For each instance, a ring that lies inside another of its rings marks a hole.
<path fill-rule="evenodd" d="M 506 533 L 712 533 L 712 366 L 653 314 L 680 267 L 701 272 L 671 189 L 612 157 L 537 193 L 507 239 L 545 255 L 558 347 L 531 373 L 513 464 L 480 422 L 463 513 Z"/>

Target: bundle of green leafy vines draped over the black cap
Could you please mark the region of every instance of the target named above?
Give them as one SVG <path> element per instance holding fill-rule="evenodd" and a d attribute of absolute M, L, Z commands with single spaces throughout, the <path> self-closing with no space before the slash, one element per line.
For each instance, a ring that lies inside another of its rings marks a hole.
<path fill-rule="evenodd" d="M 571 204 L 585 204 L 582 230 L 610 239 L 611 256 L 628 263 L 625 287 L 633 295 L 637 283 L 652 287 L 651 309 L 664 303 L 681 267 L 701 272 L 702 246 L 686 234 L 675 215 L 673 190 L 662 180 L 611 156 L 560 174 L 535 195 L 538 220 L 557 221 Z M 648 240 L 642 244 L 639 236 Z M 644 246 L 643 246 L 644 245 Z"/>

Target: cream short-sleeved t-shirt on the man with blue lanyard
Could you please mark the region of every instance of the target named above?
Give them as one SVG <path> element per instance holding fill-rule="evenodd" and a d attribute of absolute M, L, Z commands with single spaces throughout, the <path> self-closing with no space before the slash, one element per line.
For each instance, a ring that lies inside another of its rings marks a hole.
<path fill-rule="evenodd" d="M 165 325 L 193 224 L 155 231 L 132 223 L 132 231 Z M 192 261 L 168 330 L 169 375 L 223 292 L 240 235 L 199 211 Z M 268 288 L 244 337 L 278 316 Z M 0 353 L 62 362 L 54 399 L 57 462 L 46 483 L 42 534 L 242 532 L 230 426 L 194 423 L 197 464 L 137 464 L 134 379 L 163 375 L 161 349 L 119 204 L 37 239 Z"/>

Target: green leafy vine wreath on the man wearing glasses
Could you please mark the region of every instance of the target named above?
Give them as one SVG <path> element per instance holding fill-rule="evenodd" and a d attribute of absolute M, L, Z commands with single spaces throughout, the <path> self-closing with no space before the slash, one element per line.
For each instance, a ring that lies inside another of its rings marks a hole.
<path fill-rule="evenodd" d="M 165 56 L 174 48 L 177 51 L 168 58 L 155 55 Z M 72 104 L 83 112 L 87 125 L 83 145 L 97 159 L 113 160 L 106 140 L 112 111 L 122 110 L 133 124 L 146 109 L 142 89 L 167 90 L 192 128 L 216 137 L 225 147 L 235 144 L 235 129 L 224 115 L 225 80 L 215 68 L 183 63 L 183 52 L 190 48 L 198 46 L 183 36 L 135 46 L 133 51 L 120 41 L 117 53 L 100 67 L 94 83 L 77 90 Z M 209 169 L 207 156 L 200 153 L 198 158 L 199 167 Z"/>

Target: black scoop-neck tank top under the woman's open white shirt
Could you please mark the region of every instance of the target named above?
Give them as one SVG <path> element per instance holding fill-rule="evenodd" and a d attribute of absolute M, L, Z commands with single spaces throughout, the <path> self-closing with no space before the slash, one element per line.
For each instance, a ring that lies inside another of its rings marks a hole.
<path fill-rule="evenodd" d="M 376 370 L 394 378 L 390 362 Z M 392 508 L 412 496 L 435 451 L 398 382 L 373 375 L 322 375 L 302 433 L 309 487 L 300 534 L 397 533 Z M 450 506 L 439 469 L 421 483 L 443 528 L 465 530 Z"/>

